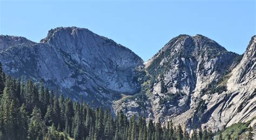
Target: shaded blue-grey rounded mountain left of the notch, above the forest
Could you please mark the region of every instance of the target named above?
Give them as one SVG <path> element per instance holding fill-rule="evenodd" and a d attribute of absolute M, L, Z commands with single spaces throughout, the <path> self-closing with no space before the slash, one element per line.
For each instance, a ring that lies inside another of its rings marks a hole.
<path fill-rule="evenodd" d="M 44 79 L 46 85 L 78 100 L 107 105 L 121 94 L 134 94 L 140 84 L 135 68 L 142 59 L 113 40 L 85 28 L 59 27 L 41 43 L 1 36 L 0 62 L 11 76 Z M 6 43 L 8 42 L 8 43 Z"/>

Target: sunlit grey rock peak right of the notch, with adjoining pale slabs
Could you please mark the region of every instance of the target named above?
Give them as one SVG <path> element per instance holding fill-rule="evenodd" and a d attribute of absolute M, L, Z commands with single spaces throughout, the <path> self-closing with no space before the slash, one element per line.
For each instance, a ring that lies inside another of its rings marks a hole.
<path fill-rule="evenodd" d="M 150 78 L 143 84 L 144 91 L 114 102 L 113 107 L 124 110 L 128 116 L 140 114 L 154 121 L 172 120 L 190 129 L 202 125 L 217 130 L 248 121 L 255 116 L 252 42 L 241 60 L 240 55 L 203 35 L 179 35 L 146 63 Z M 245 80 L 239 85 L 246 90 L 236 85 L 240 80 Z M 235 97 L 238 94 L 241 95 Z M 235 108 L 232 105 L 252 108 L 244 108 L 247 113 L 239 116 L 231 110 Z"/>

